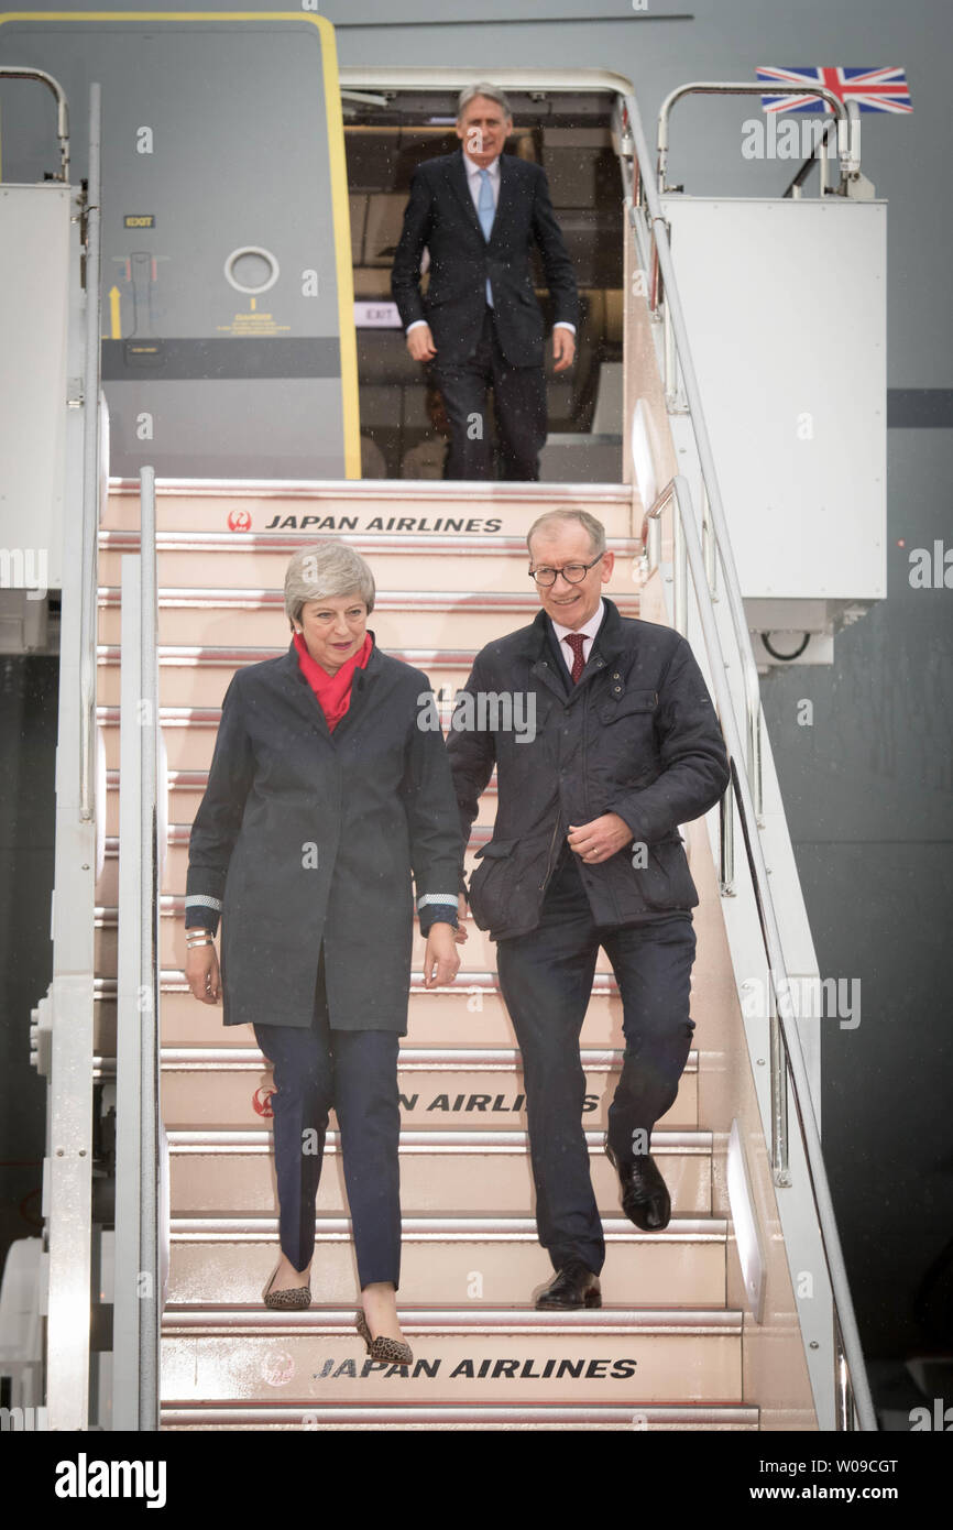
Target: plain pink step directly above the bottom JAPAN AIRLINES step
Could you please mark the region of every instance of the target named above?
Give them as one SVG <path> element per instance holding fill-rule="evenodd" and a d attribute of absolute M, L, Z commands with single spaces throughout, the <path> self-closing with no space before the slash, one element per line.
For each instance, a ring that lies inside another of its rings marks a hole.
<path fill-rule="evenodd" d="M 621 1215 L 604 1216 L 603 1300 L 722 1308 L 727 1230 L 720 1218 L 678 1216 L 662 1232 L 644 1233 Z M 173 1216 L 170 1233 L 170 1308 L 260 1304 L 277 1259 L 277 1216 Z M 402 1219 L 401 1291 L 419 1305 L 522 1305 L 551 1279 L 532 1218 Z M 323 1304 L 353 1302 L 358 1281 L 346 1218 L 317 1219 L 314 1281 Z"/>

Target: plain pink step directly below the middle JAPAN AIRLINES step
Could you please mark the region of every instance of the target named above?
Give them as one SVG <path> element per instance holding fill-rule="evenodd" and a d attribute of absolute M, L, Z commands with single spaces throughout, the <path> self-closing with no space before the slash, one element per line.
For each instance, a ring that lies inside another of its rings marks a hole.
<path fill-rule="evenodd" d="M 586 1132 L 600 1206 L 620 1200 L 603 1132 Z M 271 1132 L 170 1131 L 170 1198 L 177 1216 L 274 1212 Z M 711 1132 L 656 1129 L 652 1154 L 678 1215 L 711 1213 Z M 407 1131 L 401 1134 L 401 1204 L 408 1215 L 509 1213 L 529 1216 L 532 1170 L 526 1132 Z M 340 1140 L 329 1132 L 318 1189 L 318 1215 L 346 1215 Z"/>

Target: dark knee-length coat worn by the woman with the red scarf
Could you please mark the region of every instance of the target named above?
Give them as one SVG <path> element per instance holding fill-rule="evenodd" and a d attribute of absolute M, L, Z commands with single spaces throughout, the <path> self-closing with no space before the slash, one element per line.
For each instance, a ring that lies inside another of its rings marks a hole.
<path fill-rule="evenodd" d="M 309 1027 L 324 942 L 332 1028 L 405 1034 L 411 877 L 418 901 L 456 898 L 463 866 L 431 696 L 375 643 L 330 733 L 294 644 L 234 675 L 185 890 L 187 924 L 220 909 L 225 1025 Z"/>

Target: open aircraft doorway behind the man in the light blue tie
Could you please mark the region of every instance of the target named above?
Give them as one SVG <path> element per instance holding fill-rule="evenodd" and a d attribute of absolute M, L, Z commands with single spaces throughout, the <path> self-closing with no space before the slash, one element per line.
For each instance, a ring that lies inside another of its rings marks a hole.
<path fill-rule="evenodd" d="M 442 477 L 445 416 L 424 366 L 407 352 L 390 297 L 410 179 L 424 159 L 459 147 L 457 84 L 379 87 L 343 72 L 350 202 L 361 476 Z M 352 89 L 353 87 L 353 89 Z M 549 433 L 540 454 L 548 482 L 623 477 L 623 177 L 612 139 L 615 92 L 512 89 L 506 153 L 542 164 L 580 291 L 577 355 L 552 369 L 552 312 L 542 260 L 534 277 L 546 318 Z M 427 277 L 424 275 L 424 282 Z M 493 424 L 493 422 L 491 422 Z M 499 470 L 497 470 L 499 471 Z"/>

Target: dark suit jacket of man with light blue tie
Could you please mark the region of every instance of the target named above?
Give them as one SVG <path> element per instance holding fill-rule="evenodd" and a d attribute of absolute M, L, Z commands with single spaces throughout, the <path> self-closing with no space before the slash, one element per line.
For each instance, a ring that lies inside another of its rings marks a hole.
<path fill-rule="evenodd" d="M 459 364 L 473 352 L 483 324 L 486 277 L 506 361 L 514 367 L 543 364 L 543 315 L 529 268 L 532 240 L 543 256 L 555 318 L 578 323 L 572 262 L 540 165 L 500 156 L 500 193 L 488 242 L 470 196 L 463 150 L 418 165 L 390 289 L 404 327 L 418 318 L 430 324 L 437 366 Z M 424 246 L 430 249 L 425 297 L 421 294 Z"/>

